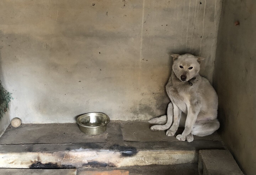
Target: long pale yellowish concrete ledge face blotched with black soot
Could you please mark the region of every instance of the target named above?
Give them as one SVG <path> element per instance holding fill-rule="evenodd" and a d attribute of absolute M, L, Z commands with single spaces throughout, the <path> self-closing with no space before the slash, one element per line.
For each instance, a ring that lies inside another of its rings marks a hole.
<path fill-rule="evenodd" d="M 0 168 L 79 168 L 133 165 L 171 165 L 197 161 L 197 151 L 118 151 L 77 149 L 61 152 L 0 153 Z"/>

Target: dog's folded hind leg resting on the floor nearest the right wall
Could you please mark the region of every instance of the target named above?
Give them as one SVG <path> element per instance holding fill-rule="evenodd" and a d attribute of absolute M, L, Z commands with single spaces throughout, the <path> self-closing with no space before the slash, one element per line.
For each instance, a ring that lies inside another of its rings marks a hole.
<path fill-rule="evenodd" d="M 196 136 L 207 136 L 219 129 L 219 121 L 215 120 L 201 120 L 196 121 L 191 131 L 192 135 Z"/>

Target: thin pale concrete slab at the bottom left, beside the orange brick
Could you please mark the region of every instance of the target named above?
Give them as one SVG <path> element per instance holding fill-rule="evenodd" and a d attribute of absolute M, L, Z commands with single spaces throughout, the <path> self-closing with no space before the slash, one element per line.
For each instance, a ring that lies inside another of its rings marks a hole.
<path fill-rule="evenodd" d="M 0 175 L 76 175 L 76 169 L 10 169 L 0 168 Z"/>

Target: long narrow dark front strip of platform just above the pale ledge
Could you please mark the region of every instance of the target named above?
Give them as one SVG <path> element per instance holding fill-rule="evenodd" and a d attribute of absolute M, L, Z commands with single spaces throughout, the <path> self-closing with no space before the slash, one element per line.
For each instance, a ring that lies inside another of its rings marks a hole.
<path fill-rule="evenodd" d="M 106 143 L 72 143 L 72 144 L 9 144 L 0 145 L 0 153 L 22 152 L 62 152 L 77 149 L 107 149 L 120 151 L 133 151 L 144 149 L 167 150 L 200 150 L 200 149 L 224 149 L 219 141 L 198 140 L 188 142 L 106 142 Z"/>

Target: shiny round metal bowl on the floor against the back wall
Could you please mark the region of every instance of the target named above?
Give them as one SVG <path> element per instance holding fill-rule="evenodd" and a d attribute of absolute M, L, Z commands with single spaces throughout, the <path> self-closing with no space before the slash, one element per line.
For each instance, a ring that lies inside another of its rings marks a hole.
<path fill-rule="evenodd" d="M 109 121 L 110 118 L 104 113 L 87 113 L 76 119 L 80 130 L 88 135 L 98 135 L 106 131 Z"/>

